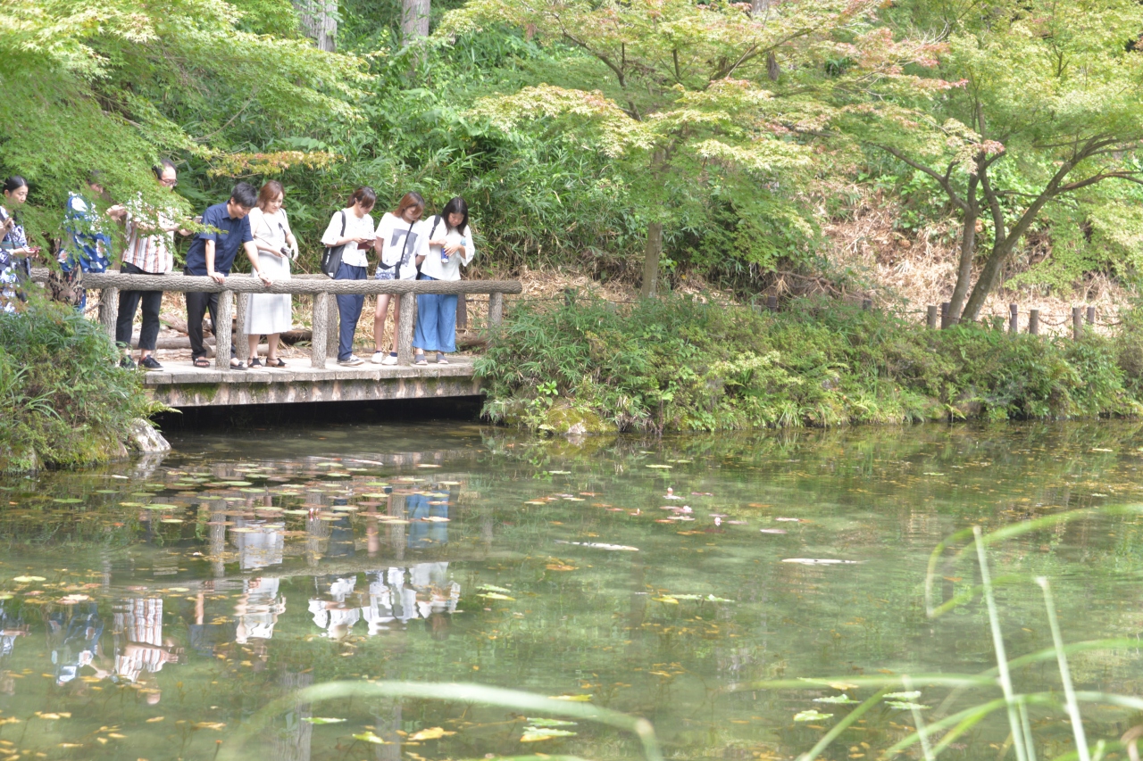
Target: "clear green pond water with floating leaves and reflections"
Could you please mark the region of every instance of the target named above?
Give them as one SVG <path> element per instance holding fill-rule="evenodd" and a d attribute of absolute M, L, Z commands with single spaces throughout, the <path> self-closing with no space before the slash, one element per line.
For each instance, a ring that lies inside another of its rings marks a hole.
<path fill-rule="evenodd" d="M 0 481 L 0 761 L 213 759 L 275 697 L 376 679 L 590 695 L 647 716 L 669 758 L 792 758 L 849 706 L 814 703 L 838 694 L 823 686 L 751 682 L 984 671 L 978 600 L 926 617 L 934 546 L 974 523 L 1128 504 L 1143 489 L 1143 433 L 1118 423 L 578 443 L 433 423 L 173 443 L 161 460 Z M 1009 656 L 1050 644 L 1038 574 L 1065 639 L 1137 636 L 1140 531 L 1134 514 L 1093 515 L 997 545 L 993 574 L 1016 577 L 998 592 Z M 857 562 L 783 562 L 798 558 Z M 941 575 L 941 599 L 977 582 L 969 560 Z M 1072 666 L 1082 689 L 1140 694 L 1134 649 Z M 1060 686 L 1052 662 L 1014 679 Z M 926 715 L 948 712 L 948 695 L 924 688 Z M 793 720 L 809 708 L 833 716 Z M 1084 711 L 1093 738 L 1138 723 Z M 519 715 L 295 704 L 245 758 L 639 755 L 630 736 L 585 723 L 522 744 Z M 1071 747 L 1061 714 L 1034 708 L 1032 721 L 1038 758 Z M 912 722 L 874 708 L 825 758 L 877 758 Z M 455 734 L 416 739 L 437 727 Z M 353 738 L 366 732 L 389 744 Z M 998 715 L 942 758 L 997 758 L 1006 736 Z"/>

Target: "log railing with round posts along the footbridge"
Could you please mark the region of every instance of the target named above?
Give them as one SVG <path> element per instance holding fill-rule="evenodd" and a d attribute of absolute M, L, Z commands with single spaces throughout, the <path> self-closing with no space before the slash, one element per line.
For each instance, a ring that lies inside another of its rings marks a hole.
<path fill-rule="evenodd" d="M 32 273 L 33 280 L 46 280 L 47 270 Z M 234 315 L 238 294 L 238 334 L 242 334 L 248 294 L 306 294 L 313 296 L 312 363 L 326 367 L 326 360 L 337 354 L 337 299 L 349 294 L 398 296 L 401 314 L 397 323 L 398 365 L 413 362 L 413 325 L 416 320 L 418 294 L 488 294 L 488 326 L 499 326 L 504 317 L 504 294 L 522 290 L 518 280 L 330 280 L 323 274 L 296 274 L 266 286 L 258 278 L 231 274 L 222 283 L 210 278 L 183 274 L 150 275 L 119 272 L 87 273 L 82 278 L 87 289 L 101 290 L 99 322 L 115 337 L 115 318 L 119 312 L 120 290 L 202 291 L 218 294 L 218 326 L 215 327 L 215 363 L 219 369 L 230 367 L 231 331 L 225 328 Z"/>

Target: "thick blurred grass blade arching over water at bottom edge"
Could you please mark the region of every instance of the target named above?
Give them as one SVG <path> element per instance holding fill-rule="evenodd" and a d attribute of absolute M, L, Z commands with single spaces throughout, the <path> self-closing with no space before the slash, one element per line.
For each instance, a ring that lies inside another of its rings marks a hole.
<path fill-rule="evenodd" d="M 223 745 L 218 761 L 245 761 L 248 756 L 242 748 L 274 716 L 293 710 L 298 703 L 322 703 L 338 698 L 417 698 L 454 703 L 477 703 L 514 708 L 520 712 L 536 712 L 594 721 L 633 732 L 642 744 L 646 761 L 663 761 L 658 739 L 650 722 L 642 718 L 629 716 L 618 711 L 601 708 L 590 703 L 555 700 L 520 690 L 506 690 L 481 684 L 456 684 L 439 682 L 326 682 L 313 684 L 278 698 L 243 721 Z"/>

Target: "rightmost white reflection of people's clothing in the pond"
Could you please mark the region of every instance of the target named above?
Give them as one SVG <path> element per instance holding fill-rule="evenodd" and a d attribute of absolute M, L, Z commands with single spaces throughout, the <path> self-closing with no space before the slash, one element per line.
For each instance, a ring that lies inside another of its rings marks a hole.
<path fill-rule="evenodd" d="M 389 628 L 394 620 L 401 624 L 413 618 L 427 618 L 433 612 L 456 610 L 461 585 L 448 580 L 448 563 L 417 563 L 408 569 L 405 583 L 403 568 L 369 572 L 369 606 L 361 609 L 369 622 L 369 633 Z"/>

